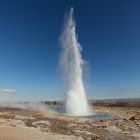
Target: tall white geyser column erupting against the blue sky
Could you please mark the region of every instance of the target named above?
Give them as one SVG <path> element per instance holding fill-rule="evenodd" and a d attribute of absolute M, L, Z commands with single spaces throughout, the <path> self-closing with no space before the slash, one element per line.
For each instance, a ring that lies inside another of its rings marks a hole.
<path fill-rule="evenodd" d="M 65 16 L 60 42 L 62 46 L 60 64 L 66 79 L 66 113 L 75 116 L 89 115 L 83 84 L 82 48 L 76 35 L 73 8 Z"/>

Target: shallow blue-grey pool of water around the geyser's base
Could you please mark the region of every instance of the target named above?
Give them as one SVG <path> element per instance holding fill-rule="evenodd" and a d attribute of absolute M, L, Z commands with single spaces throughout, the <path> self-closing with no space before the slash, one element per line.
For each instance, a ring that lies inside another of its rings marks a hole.
<path fill-rule="evenodd" d="M 56 111 L 60 115 L 69 116 L 65 113 L 65 108 L 62 105 L 52 105 L 50 108 Z M 80 117 L 80 118 L 94 119 L 94 120 L 108 120 L 108 119 L 118 118 L 117 116 L 105 112 L 93 112 L 91 113 L 91 115 L 88 116 L 70 116 L 70 117 Z"/>

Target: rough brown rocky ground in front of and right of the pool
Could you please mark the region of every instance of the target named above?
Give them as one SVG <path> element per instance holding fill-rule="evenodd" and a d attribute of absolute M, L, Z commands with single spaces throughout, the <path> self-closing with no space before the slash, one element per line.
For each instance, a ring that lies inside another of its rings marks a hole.
<path fill-rule="evenodd" d="M 26 133 L 28 133 L 30 130 L 35 130 L 36 132 L 41 132 L 42 135 L 59 135 L 59 138 L 56 137 L 56 139 L 66 140 L 140 139 L 139 109 L 121 107 L 94 107 L 94 110 L 96 112 L 111 113 L 118 116 L 118 118 L 113 120 L 91 120 L 78 117 L 67 117 L 50 112 L 0 108 L 0 138 L 4 134 L 2 133 L 2 128 L 6 127 L 14 128 L 16 130 L 17 128 L 20 130 L 24 129 L 24 131 L 25 129 L 28 129 Z M 47 137 L 45 138 L 47 139 Z M 53 138 L 54 137 L 48 137 L 50 140 Z M 18 139 L 20 140 L 20 138 Z M 36 139 L 38 140 L 37 137 Z M 1 140 L 3 139 L 1 138 Z"/>

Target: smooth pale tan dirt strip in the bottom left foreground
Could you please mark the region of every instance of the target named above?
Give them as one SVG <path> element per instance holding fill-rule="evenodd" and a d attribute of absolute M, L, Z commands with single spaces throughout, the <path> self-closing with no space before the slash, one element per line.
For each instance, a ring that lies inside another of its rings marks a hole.
<path fill-rule="evenodd" d="M 0 140 L 80 140 L 80 137 L 43 133 L 28 128 L 0 127 Z"/>

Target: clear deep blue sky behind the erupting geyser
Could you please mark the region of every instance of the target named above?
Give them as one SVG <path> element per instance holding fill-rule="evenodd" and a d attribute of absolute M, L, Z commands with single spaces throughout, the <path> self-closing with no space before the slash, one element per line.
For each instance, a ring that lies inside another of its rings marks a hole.
<path fill-rule="evenodd" d="M 20 100 L 63 99 L 59 36 L 71 6 L 88 98 L 140 97 L 139 0 L 1 0 L 0 89 Z"/>

